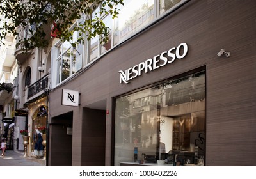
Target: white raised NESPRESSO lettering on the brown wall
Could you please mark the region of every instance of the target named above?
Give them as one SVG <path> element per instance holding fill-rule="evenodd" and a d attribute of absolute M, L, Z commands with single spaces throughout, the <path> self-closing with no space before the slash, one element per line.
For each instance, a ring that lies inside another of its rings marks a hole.
<path fill-rule="evenodd" d="M 131 79 L 134 79 L 141 74 L 147 74 L 147 72 L 161 68 L 169 63 L 173 63 L 175 59 L 184 58 L 187 53 L 188 45 L 186 43 L 180 43 L 177 48 L 172 47 L 168 51 L 157 54 L 153 58 L 147 59 L 138 65 L 134 65 L 125 71 L 120 70 L 120 83 L 129 83 Z"/>

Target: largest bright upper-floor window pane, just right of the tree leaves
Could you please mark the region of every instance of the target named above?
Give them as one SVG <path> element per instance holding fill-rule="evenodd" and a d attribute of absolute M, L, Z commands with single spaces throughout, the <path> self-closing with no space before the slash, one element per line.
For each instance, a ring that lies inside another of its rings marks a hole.
<path fill-rule="evenodd" d="M 154 19 L 154 0 L 124 0 L 115 19 L 114 45 L 140 31 Z"/>

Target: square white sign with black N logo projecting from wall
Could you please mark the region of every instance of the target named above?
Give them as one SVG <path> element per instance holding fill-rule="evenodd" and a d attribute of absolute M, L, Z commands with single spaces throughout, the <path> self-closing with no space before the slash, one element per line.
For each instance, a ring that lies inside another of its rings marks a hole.
<path fill-rule="evenodd" d="M 62 89 L 62 105 L 79 105 L 79 91 Z"/>

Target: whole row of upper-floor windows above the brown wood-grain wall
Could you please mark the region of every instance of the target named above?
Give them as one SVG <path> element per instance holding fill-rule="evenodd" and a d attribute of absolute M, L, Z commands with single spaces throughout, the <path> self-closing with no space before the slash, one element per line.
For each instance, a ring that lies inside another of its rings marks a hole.
<path fill-rule="evenodd" d="M 159 16 L 171 12 L 175 7 L 182 5 L 186 1 L 188 0 L 124 0 L 124 6 L 121 4 L 116 6 L 117 9 L 120 9 L 116 19 L 111 19 L 111 15 L 108 14 L 103 14 L 100 17 L 111 30 L 108 42 L 100 43 L 100 36 L 97 35 L 88 43 L 84 43 L 86 47 L 80 44 L 75 49 L 70 42 L 64 42 L 56 46 L 56 54 L 58 54 L 58 58 L 56 58 L 58 68 L 57 84 L 70 77 L 83 66 L 104 55 L 115 45 L 140 32 L 150 23 L 153 23 L 154 20 L 157 20 Z M 98 13 L 99 8 L 93 12 L 92 18 L 96 14 L 99 15 Z M 108 10 L 106 10 L 106 13 L 108 13 Z M 83 19 L 80 20 L 83 21 Z M 76 35 L 77 33 L 74 33 L 74 40 L 76 40 Z M 86 51 L 83 52 L 83 49 L 86 49 Z"/>

